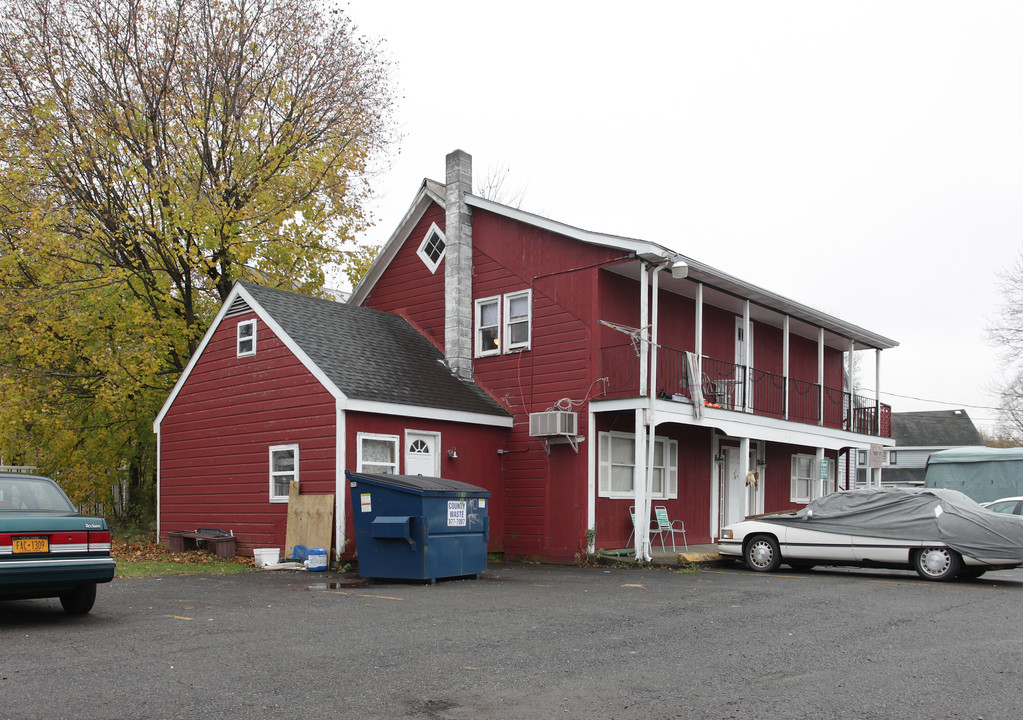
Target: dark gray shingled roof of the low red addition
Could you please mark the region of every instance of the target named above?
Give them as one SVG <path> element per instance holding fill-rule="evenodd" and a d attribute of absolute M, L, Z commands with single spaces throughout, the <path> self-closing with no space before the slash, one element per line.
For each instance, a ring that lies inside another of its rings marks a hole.
<path fill-rule="evenodd" d="M 437 347 L 398 315 L 240 284 L 352 400 L 510 416 L 475 382 L 456 377 Z"/>

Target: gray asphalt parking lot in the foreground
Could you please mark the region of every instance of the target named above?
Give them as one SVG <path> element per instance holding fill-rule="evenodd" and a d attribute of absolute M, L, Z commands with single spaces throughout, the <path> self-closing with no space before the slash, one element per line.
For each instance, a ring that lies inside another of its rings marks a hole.
<path fill-rule="evenodd" d="M 116 580 L 0 603 L 0 717 L 1016 718 L 1023 571 L 500 564 L 481 580 Z"/>

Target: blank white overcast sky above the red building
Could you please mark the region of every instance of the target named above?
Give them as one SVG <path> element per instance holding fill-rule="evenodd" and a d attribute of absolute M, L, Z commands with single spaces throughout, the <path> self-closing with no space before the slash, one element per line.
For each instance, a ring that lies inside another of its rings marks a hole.
<path fill-rule="evenodd" d="M 898 341 L 881 354 L 896 412 L 991 423 L 986 327 L 1023 248 L 1023 3 L 347 7 L 402 96 L 364 239 L 383 242 L 461 148 L 477 178 L 505 169 L 525 210 Z"/>

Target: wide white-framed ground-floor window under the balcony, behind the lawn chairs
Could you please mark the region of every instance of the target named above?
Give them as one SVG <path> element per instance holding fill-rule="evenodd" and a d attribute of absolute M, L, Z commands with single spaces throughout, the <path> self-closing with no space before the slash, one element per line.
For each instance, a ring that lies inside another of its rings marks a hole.
<path fill-rule="evenodd" d="M 634 498 L 632 482 L 635 468 L 636 439 L 629 433 L 599 434 L 601 497 Z M 654 438 L 654 474 L 651 498 L 669 500 L 678 497 L 678 443 L 668 438 Z"/>

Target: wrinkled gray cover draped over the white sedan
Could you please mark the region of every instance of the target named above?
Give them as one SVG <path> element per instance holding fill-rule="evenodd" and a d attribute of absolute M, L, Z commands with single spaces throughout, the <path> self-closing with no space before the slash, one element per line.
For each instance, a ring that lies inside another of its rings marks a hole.
<path fill-rule="evenodd" d="M 1023 562 L 1023 516 L 986 510 L 958 490 L 849 490 L 813 500 L 798 512 L 757 520 L 825 533 L 943 542 L 971 557 Z"/>

